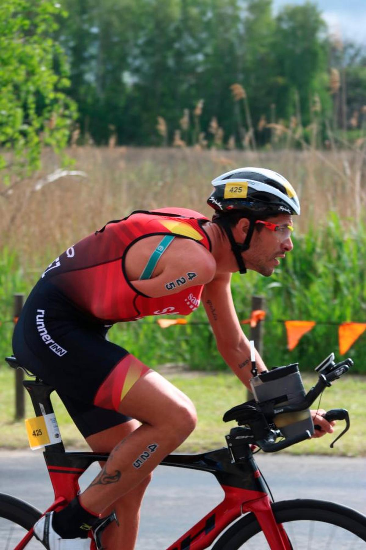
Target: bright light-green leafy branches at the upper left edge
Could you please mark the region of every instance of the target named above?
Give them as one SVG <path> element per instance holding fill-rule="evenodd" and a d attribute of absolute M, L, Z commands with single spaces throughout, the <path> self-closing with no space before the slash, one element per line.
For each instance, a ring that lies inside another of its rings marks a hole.
<path fill-rule="evenodd" d="M 0 168 L 31 172 L 42 146 L 67 143 L 74 102 L 66 57 L 53 35 L 60 5 L 49 0 L 0 3 Z M 7 178 L 9 176 L 7 175 Z"/>

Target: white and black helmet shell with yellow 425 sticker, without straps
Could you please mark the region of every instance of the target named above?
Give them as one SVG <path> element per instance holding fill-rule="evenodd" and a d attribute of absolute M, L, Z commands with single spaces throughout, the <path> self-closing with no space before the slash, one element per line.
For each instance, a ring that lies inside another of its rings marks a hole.
<path fill-rule="evenodd" d="M 254 216 L 300 215 L 295 189 L 282 175 L 267 168 L 237 168 L 212 180 L 207 203 L 217 212 L 251 211 Z"/>

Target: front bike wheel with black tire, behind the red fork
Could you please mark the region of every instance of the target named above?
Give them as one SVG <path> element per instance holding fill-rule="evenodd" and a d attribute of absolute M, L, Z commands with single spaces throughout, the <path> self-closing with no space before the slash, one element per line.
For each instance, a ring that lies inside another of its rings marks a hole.
<path fill-rule="evenodd" d="M 284 500 L 274 503 L 272 508 L 277 522 L 284 524 L 294 550 L 366 548 L 366 517 L 351 508 L 309 499 Z M 293 524 L 295 521 L 301 521 L 301 524 Z M 320 541 L 320 538 L 324 540 Z M 252 513 L 229 527 L 212 550 L 239 550 L 242 546 L 243 550 L 269 549 L 261 527 Z"/>

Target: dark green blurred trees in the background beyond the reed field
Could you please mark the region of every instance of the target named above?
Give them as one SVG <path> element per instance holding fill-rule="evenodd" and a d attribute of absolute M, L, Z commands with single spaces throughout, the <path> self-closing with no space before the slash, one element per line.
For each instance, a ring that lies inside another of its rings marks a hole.
<path fill-rule="evenodd" d="M 284 8 L 272 0 L 63 0 L 70 17 L 60 33 L 71 62 L 71 94 L 80 108 L 82 133 L 97 143 L 112 132 L 120 142 L 159 144 L 157 116 L 170 141 L 189 109 L 192 144 L 210 122 L 225 139 L 261 119 L 295 114 L 294 91 L 304 122 L 309 94 L 324 90 L 325 25 L 315 5 Z M 230 86 L 239 83 L 244 106 Z M 322 90 L 319 90 L 322 88 Z M 200 120 L 194 109 L 204 100 Z M 272 106 L 272 107 L 271 107 Z M 187 111 L 186 111 L 187 112 Z M 251 113 L 251 120 L 247 114 Z M 213 130 L 206 136 L 214 139 Z"/>

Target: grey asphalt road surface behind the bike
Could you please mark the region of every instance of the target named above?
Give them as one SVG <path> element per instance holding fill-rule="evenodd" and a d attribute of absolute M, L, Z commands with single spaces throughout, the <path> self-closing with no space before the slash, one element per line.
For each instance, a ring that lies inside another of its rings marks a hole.
<path fill-rule="evenodd" d="M 275 500 L 332 500 L 366 514 L 366 459 L 329 456 L 256 455 Z M 86 472 L 86 487 L 97 466 Z M 40 452 L 0 451 L 0 492 L 43 509 L 52 501 Z M 137 550 L 161 550 L 181 536 L 222 500 L 211 474 L 160 466 L 145 496 Z M 154 546 L 151 546 L 154 541 Z M 0 550 L 1 550 L 0 543 Z"/>

